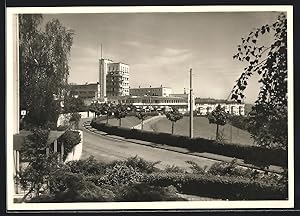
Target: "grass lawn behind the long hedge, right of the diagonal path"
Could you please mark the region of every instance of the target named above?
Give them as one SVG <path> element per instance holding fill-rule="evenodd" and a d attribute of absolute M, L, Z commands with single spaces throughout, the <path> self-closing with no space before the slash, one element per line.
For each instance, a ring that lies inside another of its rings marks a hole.
<path fill-rule="evenodd" d="M 166 118 L 161 118 L 151 125 L 152 130 L 156 132 L 171 133 L 171 122 Z M 224 135 L 226 142 L 240 143 L 240 144 L 253 144 L 253 139 L 250 133 L 241 130 L 229 124 L 220 126 L 220 131 Z M 230 135 L 232 131 L 232 136 Z M 184 116 L 183 119 L 176 122 L 174 127 L 174 134 L 189 136 L 189 117 Z M 216 125 L 209 124 L 206 117 L 194 117 L 194 137 L 202 137 L 206 139 L 215 139 Z"/>

